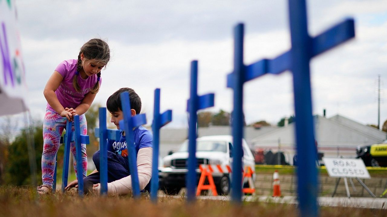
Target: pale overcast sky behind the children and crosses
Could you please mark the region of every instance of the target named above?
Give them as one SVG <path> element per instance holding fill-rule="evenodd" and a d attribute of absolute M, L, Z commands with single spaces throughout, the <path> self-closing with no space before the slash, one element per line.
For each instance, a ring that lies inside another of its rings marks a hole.
<path fill-rule="evenodd" d="M 287 1 L 18 0 L 19 29 L 29 92 L 27 103 L 43 120 L 43 88 L 65 59 L 76 59 L 89 39 L 105 39 L 111 61 L 94 103 L 118 88 L 133 88 L 152 120 L 153 94 L 161 88 L 161 111 L 173 110 L 169 127 L 187 126 L 190 61 L 199 61 L 200 95 L 215 93 L 215 107 L 231 112 L 226 75 L 233 68 L 232 30 L 245 23 L 245 64 L 290 48 Z M 381 75 L 380 124 L 387 119 L 387 0 L 307 1 L 309 32 L 319 34 L 346 17 L 356 37 L 312 60 L 313 114 L 341 114 L 377 124 L 377 76 Z M 246 122 L 276 124 L 294 114 L 290 72 L 265 75 L 244 86 Z"/>

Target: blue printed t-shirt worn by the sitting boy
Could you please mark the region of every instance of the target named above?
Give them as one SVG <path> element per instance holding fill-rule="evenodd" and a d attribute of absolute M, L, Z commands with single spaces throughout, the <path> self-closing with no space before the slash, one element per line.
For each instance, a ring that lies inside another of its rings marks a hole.
<path fill-rule="evenodd" d="M 136 150 L 136 156 L 139 153 L 140 148 L 143 147 L 152 147 L 152 134 L 151 131 L 147 130 L 143 126 L 139 126 L 133 131 L 134 133 L 134 147 Z M 128 149 L 127 144 L 125 140 L 125 136 L 122 135 L 121 131 L 121 137 L 117 140 L 108 139 L 107 141 L 107 148 L 108 151 L 118 153 L 123 156 L 124 153 L 128 156 Z"/>

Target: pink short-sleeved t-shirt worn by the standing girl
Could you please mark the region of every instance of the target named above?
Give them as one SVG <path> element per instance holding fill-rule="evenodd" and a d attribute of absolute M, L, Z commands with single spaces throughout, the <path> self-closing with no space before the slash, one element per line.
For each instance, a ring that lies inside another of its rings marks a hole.
<path fill-rule="evenodd" d="M 85 95 L 90 92 L 90 89 L 97 82 L 97 75 L 89 76 L 86 79 L 77 76 L 78 84 L 81 88 L 80 92 L 77 92 L 73 86 L 73 78 L 77 71 L 77 59 L 65 60 L 59 63 L 55 71 L 58 71 L 63 76 L 63 80 L 60 83 L 58 89 L 55 91 L 57 98 L 63 108 L 76 108 L 83 100 Z M 99 80 L 99 85 L 102 83 L 102 78 Z M 55 112 L 55 110 L 47 103 L 47 109 Z"/>

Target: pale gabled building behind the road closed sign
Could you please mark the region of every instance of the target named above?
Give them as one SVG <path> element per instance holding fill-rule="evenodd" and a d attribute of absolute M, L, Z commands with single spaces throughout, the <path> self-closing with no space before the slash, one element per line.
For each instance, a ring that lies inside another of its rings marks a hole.
<path fill-rule="evenodd" d="M 380 143 L 387 137 L 387 133 L 374 127 L 360 124 L 341 115 L 325 118 L 314 116 L 315 138 L 318 143 L 319 153 L 324 156 L 356 156 L 356 147 L 367 144 Z M 267 132 L 252 139 L 255 148 L 266 151 L 284 151 L 286 160 L 293 164 L 295 153 L 295 128 L 294 122 Z M 311 144 L 315 145 L 315 144 Z"/>

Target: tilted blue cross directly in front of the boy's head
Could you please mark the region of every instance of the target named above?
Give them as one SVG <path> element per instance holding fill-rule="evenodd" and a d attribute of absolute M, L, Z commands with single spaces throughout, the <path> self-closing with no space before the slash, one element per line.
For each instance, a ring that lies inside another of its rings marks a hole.
<path fill-rule="evenodd" d="M 128 149 L 128 161 L 130 176 L 132 177 L 132 193 L 134 198 L 140 197 L 139 175 L 137 172 L 137 153 L 134 148 L 133 129 L 140 125 L 146 124 L 146 115 L 138 114 L 132 117 L 130 113 L 129 93 L 121 93 L 121 105 L 123 120 L 120 120 L 120 128 L 125 130 L 126 146 Z"/>

